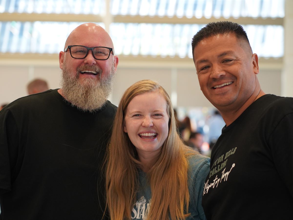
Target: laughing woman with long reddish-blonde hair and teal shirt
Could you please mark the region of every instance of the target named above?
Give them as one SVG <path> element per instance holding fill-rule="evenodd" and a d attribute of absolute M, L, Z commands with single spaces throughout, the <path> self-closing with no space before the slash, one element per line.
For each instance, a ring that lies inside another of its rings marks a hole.
<path fill-rule="evenodd" d="M 106 161 L 111 220 L 205 219 L 209 158 L 184 145 L 170 97 L 157 82 L 136 82 L 123 94 Z"/>

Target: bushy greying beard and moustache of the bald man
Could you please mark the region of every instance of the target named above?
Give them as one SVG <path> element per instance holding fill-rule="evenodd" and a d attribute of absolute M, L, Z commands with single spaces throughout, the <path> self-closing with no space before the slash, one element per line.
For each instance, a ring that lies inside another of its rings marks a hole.
<path fill-rule="evenodd" d="M 114 63 L 110 74 L 103 79 L 101 78 L 102 70 L 97 66 L 83 65 L 77 68 L 75 75 L 69 72 L 65 62 L 63 63 L 63 67 L 60 86 L 64 98 L 79 110 L 89 112 L 100 110 L 112 92 L 112 85 L 115 78 Z M 78 76 L 82 70 L 97 71 L 99 79 L 79 79 Z"/>

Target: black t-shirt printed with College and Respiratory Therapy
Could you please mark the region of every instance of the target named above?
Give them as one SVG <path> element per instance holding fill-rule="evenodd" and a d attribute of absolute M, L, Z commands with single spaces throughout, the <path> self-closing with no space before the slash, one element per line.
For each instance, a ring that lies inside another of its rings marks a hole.
<path fill-rule="evenodd" d="M 293 218 L 293 98 L 264 95 L 212 149 L 202 206 L 207 219 Z"/>

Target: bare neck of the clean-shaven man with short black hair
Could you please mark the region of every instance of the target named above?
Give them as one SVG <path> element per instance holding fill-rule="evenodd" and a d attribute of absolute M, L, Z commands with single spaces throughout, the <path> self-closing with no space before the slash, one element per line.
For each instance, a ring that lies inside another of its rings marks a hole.
<path fill-rule="evenodd" d="M 251 97 L 249 97 L 249 99 L 239 108 L 219 109 L 226 126 L 229 126 L 233 121 L 235 121 L 243 113 L 243 111 L 248 108 L 248 106 L 250 106 L 255 100 L 259 99 L 263 95 L 265 95 L 265 93 L 263 90 L 259 89 L 258 92 L 253 93 Z"/>

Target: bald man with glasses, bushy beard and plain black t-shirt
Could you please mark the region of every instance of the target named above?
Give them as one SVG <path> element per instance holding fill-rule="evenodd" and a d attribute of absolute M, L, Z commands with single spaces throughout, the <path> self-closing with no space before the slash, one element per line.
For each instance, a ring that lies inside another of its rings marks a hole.
<path fill-rule="evenodd" d="M 103 157 L 116 106 L 118 65 L 108 33 L 75 28 L 59 53 L 61 89 L 23 97 L 0 112 L 2 220 L 104 219 Z"/>

